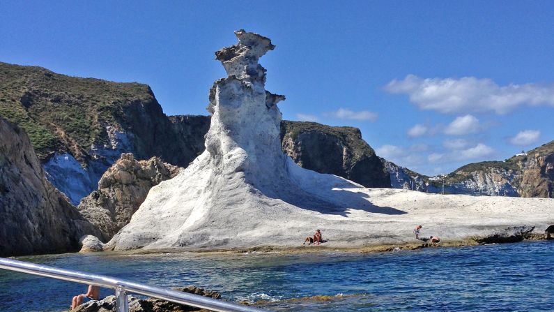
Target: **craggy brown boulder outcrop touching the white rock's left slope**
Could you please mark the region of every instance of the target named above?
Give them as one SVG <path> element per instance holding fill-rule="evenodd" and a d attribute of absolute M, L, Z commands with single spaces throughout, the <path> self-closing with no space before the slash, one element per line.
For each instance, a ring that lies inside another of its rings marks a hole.
<path fill-rule="evenodd" d="M 121 154 L 98 181 L 98 191 L 83 198 L 77 209 L 102 232 L 100 239 L 107 242 L 129 223 L 150 188 L 174 177 L 179 170 L 157 157 L 137 161 L 132 154 Z"/>

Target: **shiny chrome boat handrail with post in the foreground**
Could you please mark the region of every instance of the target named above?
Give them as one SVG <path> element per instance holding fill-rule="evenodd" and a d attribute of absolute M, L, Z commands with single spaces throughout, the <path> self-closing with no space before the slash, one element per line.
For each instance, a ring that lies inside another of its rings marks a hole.
<path fill-rule="evenodd" d="M 243 306 L 232 302 L 194 295 L 187 292 L 179 292 L 161 287 L 134 283 L 123 279 L 113 278 L 97 274 L 88 274 L 84 272 L 73 271 L 70 269 L 58 269 L 47 265 L 36 265 L 35 263 L 24 262 L 13 259 L 0 258 L 0 269 L 23 272 L 38 276 L 61 279 L 75 283 L 96 285 L 104 288 L 111 288 L 116 293 L 116 306 L 118 312 L 128 312 L 127 294 L 145 295 L 164 299 L 178 304 L 187 304 L 199 308 L 220 312 L 263 312 L 264 310 L 252 306 Z"/>

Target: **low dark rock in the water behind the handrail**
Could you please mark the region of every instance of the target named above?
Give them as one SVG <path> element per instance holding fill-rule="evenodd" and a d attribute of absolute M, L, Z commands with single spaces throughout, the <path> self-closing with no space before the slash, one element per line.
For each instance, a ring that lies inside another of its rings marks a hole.
<path fill-rule="evenodd" d="M 194 295 L 200 295 L 204 297 L 210 297 L 213 299 L 220 299 L 219 292 L 204 290 L 203 288 L 197 288 L 194 286 L 188 286 L 185 288 L 174 288 L 181 292 L 188 292 Z M 186 311 L 206 311 L 194 306 L 187 306 L 185 304 L 176 304 L 174 302 L 167 302 L 162 299 L 148 298 L 139 299 L 130 295 L 129 297 L 129 311 L 130 312 L 186 312 Z M 77 308 L 71 310 L 71 312 L 111 312 L 116 311 L 116 297 L 107 296 L 102 300 L 93 300 L 86 302 Z"/>

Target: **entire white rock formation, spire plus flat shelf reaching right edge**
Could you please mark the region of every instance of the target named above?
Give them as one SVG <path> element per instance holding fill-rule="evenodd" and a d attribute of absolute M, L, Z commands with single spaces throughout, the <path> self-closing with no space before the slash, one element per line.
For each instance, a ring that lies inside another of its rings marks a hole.
<path fill-rule="evenodd" d="M 243 30 L 236 36 L 237 45 L 216 52 L 229 76 L 210 90 L 206 151 L 151 188 L 105 249 L 298 246 L 316 228 L 327 246 L 364 246 L 415 242 L 420 223 L 422 235 L 443 239 L 554 223 L 552 200 L 369 189 L 300 168 L 279 142 L 284 96 L 264 89 L 258 64 L 275 46 Z"/>

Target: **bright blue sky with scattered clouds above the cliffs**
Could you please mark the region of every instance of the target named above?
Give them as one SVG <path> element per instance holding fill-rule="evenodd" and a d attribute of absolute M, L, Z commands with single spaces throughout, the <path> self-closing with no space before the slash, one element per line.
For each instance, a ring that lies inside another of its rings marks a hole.
<path fill-rule="evenodd" d="M 554 1 L 1 1 L 0 61 L 149 84 L 208 114 L 214 52 L 246 29 L 284 119 L 360 128 L 423 174 L 554 140 Z"/>

